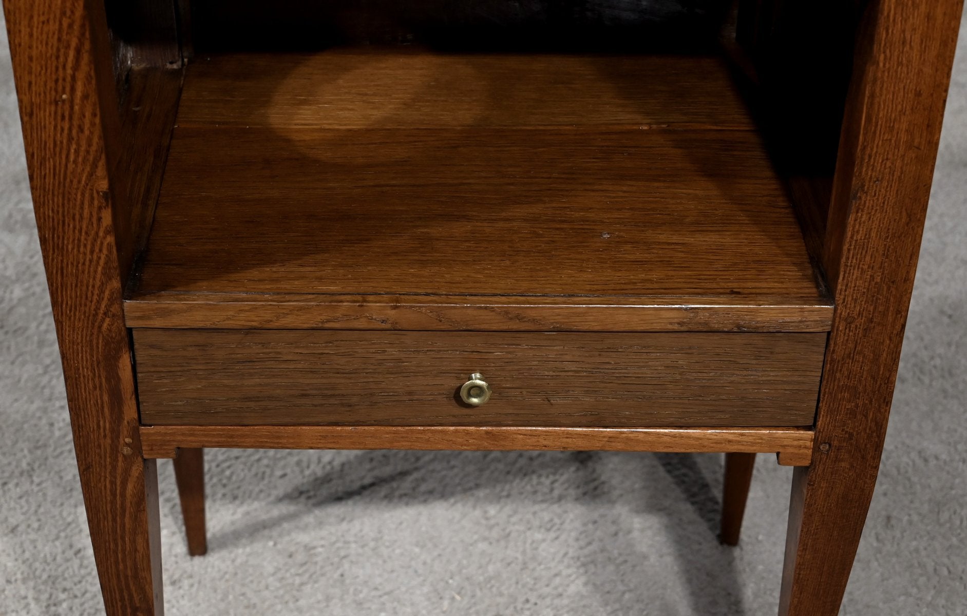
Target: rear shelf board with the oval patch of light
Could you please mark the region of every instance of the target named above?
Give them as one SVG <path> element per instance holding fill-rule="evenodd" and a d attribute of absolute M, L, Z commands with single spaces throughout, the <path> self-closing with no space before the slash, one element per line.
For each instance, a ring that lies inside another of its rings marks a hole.
<path fill-rule="evenodd" d="M 412 47 L 199 58 L 178 126 L 270 128 L 293 139 L 312 138 L 307 129 L 755 128 L 717 56 Z"/>

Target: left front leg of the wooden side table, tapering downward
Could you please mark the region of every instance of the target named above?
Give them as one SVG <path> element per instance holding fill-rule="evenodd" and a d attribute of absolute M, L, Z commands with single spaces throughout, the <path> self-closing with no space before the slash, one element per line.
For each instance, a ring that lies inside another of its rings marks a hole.
<path fill-rule="evenodd" d="M 113 111 L 96 83 L 105 75 L 113 88 L 105 21 L 97 3 L 80 0 L 3 5 L 104 607 L 158 615 L 157 474 L 141 457 L 104 152 Z"/>

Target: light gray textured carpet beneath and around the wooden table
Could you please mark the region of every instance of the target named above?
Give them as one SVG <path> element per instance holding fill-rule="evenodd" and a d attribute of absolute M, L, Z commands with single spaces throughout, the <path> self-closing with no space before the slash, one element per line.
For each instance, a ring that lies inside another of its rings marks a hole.
<path fill-rule="evenodd" d="M 0 614 L 99 614 L 0 36 Z M 959 58 L 848 616 L 967 613 L 967 41 Z M 164 461 L 168 613 L 774 614 L 790 471 L 759 458 L 730 549 L 720 455 L 211 451 L 193 559 Z"/>

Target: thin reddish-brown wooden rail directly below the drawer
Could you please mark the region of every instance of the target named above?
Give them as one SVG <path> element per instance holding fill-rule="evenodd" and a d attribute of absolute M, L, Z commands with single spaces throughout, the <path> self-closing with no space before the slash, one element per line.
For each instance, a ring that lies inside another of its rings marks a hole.
<path fill-rule="evenodd" d="M 345 425 L 144 425 L 146 457 L 178 448 L 552 450 L 604 452 L 778 453 L 805 466 L 812 431 L 799 427 L 502 427 Z"/>

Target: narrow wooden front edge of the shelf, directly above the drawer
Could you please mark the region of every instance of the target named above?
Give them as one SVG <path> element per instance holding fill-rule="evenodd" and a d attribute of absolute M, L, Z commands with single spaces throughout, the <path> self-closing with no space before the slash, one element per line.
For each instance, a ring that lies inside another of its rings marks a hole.
<path fill-rule="evenodd" d="M 129 327 L 494 332 L 827 332 L 832 303 L 802 298 L 147 293 Z"/>

